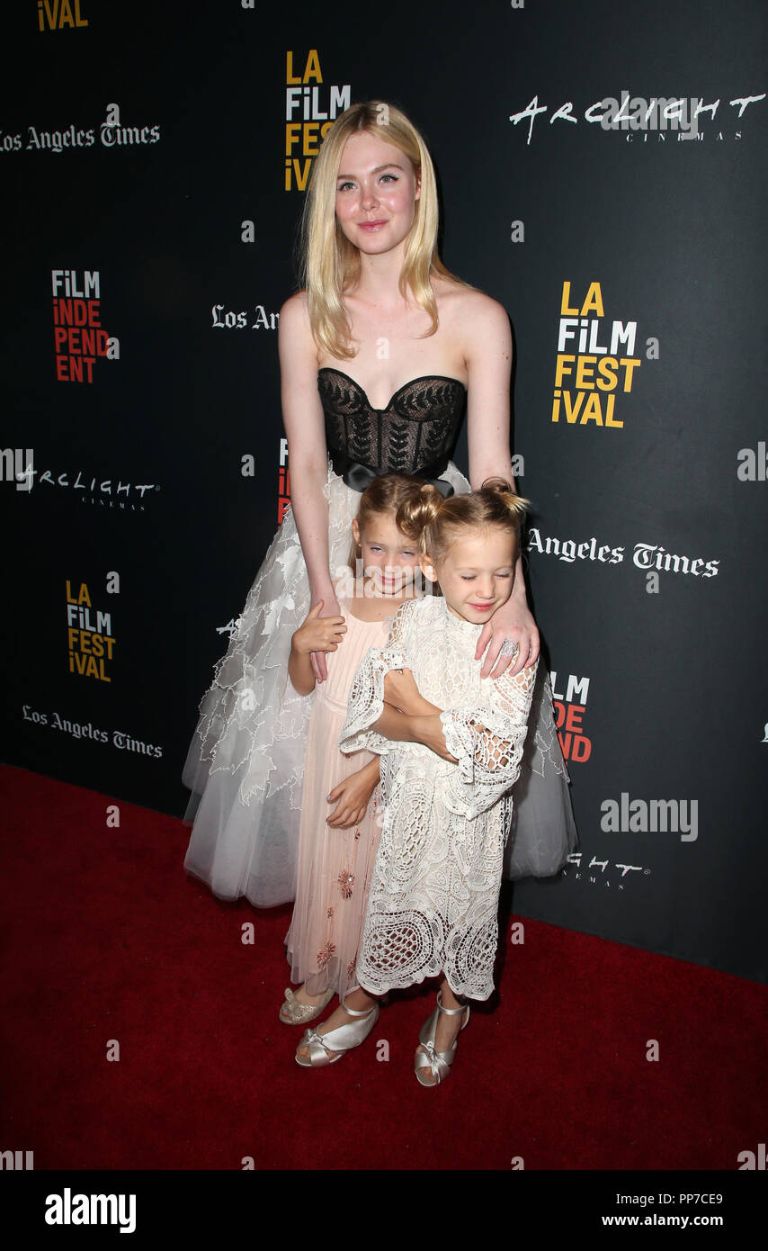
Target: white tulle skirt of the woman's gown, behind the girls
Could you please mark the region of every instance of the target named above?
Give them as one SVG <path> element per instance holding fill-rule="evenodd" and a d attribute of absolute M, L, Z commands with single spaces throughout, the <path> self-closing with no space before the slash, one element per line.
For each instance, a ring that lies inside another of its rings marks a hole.
<path fill-rule="evenodd" d="M 457 494 L 470 489 L 449 463 Z M 329 564 L 345 565 L 360 503 L 329 465 Z M 294 631 L 309 612 L 309 578 L 289 508 L 269 545 L 231 633 L 226 654 L 200 702 L 200 719 L 183 771 L 194 822 L 184 867 L 221 899 L 245 896 L 269 908 L 295 898 L 304 756 L 314 696 L 288 681 Z M 505 874 L 548 877 L 573 851 L 568 772 L 552 712 L 545 669 L 539 678 L 513 791 Z"/>

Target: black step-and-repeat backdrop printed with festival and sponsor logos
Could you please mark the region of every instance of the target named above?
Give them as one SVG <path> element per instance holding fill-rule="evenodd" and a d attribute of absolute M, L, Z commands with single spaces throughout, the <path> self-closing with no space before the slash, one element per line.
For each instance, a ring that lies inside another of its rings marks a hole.
<path fill-rule="evenodd" d="M 278 310 L 313 159 L 392 100 L 435 160 L 443 259 L 514 329 L 582 839 L 514 908 L 763 980 L 764 46 L 749 0 L 14 0 L 5 761 L 184 812 L 289 499 Z"/>

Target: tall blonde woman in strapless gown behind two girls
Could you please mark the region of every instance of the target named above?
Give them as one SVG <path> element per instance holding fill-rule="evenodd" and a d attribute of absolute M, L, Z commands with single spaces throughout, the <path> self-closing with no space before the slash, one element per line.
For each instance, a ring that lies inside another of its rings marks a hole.
<path fill-rule="evenodd" d="M 422 477 L 444 495 L 499 474 L 514 482 L 509 320 L 500 304 L 445 269 L 437 235 L 424 140 L 392 104 L 353 105 L 315 160 L 303 286 L 280 310 L 291 508 L 203 698 L 184 771 L 193 791 L 188 819 L 194 816 L 185 868 L 220 898 L 245 894 L 271 907 L 294 897 L 313 696 L 291 691 L 288 657 L 311 605 L 323 600 L 321 615 L 341 615 L 333 579 L 345 564 L 360 492 L 388 472 Z M 465 413 L 470 482 L 449 459 Z M 513 594 L 479 636 L 483 653 L 484 677 L 537 662 L 519 557 Z M 323 653 L 313 653 L 311 664 L 323 683 Z M 574 839 L 540 672 L 510 876 L 557 872 Z"/>

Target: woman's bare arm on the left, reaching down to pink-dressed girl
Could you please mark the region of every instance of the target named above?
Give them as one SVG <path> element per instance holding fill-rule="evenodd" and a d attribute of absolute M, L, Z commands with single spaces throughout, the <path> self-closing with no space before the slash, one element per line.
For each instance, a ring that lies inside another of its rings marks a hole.
<path fill-rule="evenodd" d="M 325 423 L 318 393 L 318 352 L 304 291 L 291 295 L 280 309 L 278 349 L 290 465 L 290 507 L 306 563 L 310 602 L 321 599 L 323 612 L 336 615 L 339 604 L 328 567 L 328 500 L 323 493 L 328 482 Z M 313 654 L 311 666 L 318 681 L 325 681 L 328 669 L 320 653 Z"/>

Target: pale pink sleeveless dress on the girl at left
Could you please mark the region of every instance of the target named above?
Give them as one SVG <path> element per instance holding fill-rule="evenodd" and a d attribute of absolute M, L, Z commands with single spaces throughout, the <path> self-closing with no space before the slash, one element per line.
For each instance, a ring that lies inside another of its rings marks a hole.
<path fill-rule="evenodd" d="M 334 829 L 325 823 L 336 807 L 325 797 L 374 759 L 365 751 L 343 756 L 338 743 L 358 666 L 369 648 L 384 646 L 392 624 L 392 617 L 359 620 L 353 604 L 339 599 L 346 634 L 338 652 L 326 653 L 328 681 L 315 687 L 306 741 L 296 901 L 285 943 L 290 980 L 305 982 L 309 995 L 333 986 L 344 996 L 359 985 L 355 961 L 380 833 L 378 787 L 359 826 Z"/>

